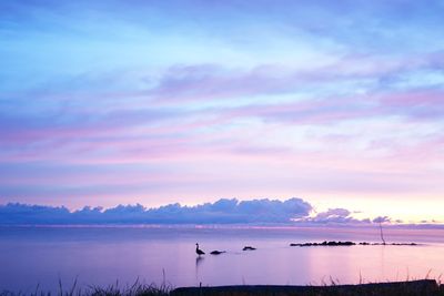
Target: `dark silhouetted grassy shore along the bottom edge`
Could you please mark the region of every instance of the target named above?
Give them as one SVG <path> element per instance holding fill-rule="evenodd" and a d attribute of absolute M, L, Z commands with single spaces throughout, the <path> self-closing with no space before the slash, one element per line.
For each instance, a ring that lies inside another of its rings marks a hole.
<path fill-rule="evenodd" d="M 89 287 L 80 289 L 71 287 L 56 294 L 37 289 L 33 293 L 2 292 L 0 296 L 444 296 L 444 286 L 434 279 L 413 282 L 331 285 L 325 286 L 223 286 L 189 287 L 173 289 L 169 286 L 153 286 L 135 283 L 132 286 Z"/>

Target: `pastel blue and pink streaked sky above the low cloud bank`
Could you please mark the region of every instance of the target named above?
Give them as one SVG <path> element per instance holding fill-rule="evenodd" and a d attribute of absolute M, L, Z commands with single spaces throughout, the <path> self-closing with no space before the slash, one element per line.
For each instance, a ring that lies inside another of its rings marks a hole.
<path fill-rule="evenodd" d="M 0 204 L 301 197 L 444 222 L 444 1 L 1 1 Z"/>

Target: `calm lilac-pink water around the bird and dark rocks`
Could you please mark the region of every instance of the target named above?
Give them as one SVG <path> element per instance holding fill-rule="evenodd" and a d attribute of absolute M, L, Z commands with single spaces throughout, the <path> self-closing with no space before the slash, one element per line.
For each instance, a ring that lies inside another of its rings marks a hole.
<path fill-rule="evenodd" d="M 379 241 L 377 228 L 0 227 L 0 290 L 107 286 L 115 280 L 173 286 L 322 284 L 437 278 L 444 231 L 385 229 L 389 242 L 420 246 L 290 247 L 324 239 Z M 219 256 L 198 258 L 199 242 Z M 242 252 L 252 245 L 254 252 Z"/>

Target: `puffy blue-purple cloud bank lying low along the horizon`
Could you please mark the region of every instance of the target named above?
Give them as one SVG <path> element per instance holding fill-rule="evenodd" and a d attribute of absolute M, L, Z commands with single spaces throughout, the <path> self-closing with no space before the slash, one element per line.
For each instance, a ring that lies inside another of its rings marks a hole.
<path fill-rule="evenodd" d="M 221 198 L 214 203 L 182 206 L 179 203 L 154 208 L 140 204 L 118 205 L 111 208 L 85 206 L 69 211 L 64 206 L 27 205 L 9 203 L 0 205 L 0 225 L 53 225 L 53 224 L 340 224 L 366 225 L 390 223 L 387 216 L 373 221 L 359 220 L 345 208 L 331 208 L 313 215 L 313 207 L 301 198 L 252 200 Z M 397 223 L 401 223 L 397 221 Z"/>

